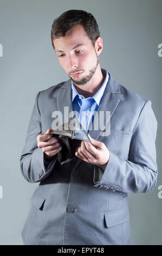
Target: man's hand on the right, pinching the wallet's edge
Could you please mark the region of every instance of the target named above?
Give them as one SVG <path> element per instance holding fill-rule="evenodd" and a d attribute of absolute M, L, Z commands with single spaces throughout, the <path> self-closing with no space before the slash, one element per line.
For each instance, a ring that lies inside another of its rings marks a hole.
<path fill-rule="evenodd" d="M 76 156 L 85 162 L 96 164 L 105 169 L 110 157 L 108 148 L 103 142 L 96 141 L 89 134 L 88 136 L 91 143 L 82 141 L 81 145 L 76 149 Z"/>

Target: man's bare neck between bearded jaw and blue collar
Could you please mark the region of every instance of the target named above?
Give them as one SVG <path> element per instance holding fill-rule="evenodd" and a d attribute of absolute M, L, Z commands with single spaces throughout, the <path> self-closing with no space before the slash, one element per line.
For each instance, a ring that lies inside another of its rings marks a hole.
<path fill-rule="evenodd" d="M 83 84 L 82 86 L 78 86 L 74 83 L 73 84 L 78 94 L 81 94 L 84 97 L 92 97 L 97 93 L 99 88 L 102 86 L 104 80 L 105 77 L 102 74 L 100 65 L 98 65 L 98 68 L 96 69 L 94 76 L 88 83 Z"/>

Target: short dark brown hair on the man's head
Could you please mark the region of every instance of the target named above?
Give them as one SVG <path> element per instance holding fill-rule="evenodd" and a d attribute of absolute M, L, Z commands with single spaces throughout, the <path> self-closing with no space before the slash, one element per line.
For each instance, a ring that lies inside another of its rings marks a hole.
<path fill-rule="evenodd" d="M 86 35 L 95 46 L 95 41 L 100 36 L 95 17 L 84 10 L 68 10 L 53 21 L 51 40 L 54 50 L 53 39 L 70 34 L 77 25 L 83 26 Z"/>

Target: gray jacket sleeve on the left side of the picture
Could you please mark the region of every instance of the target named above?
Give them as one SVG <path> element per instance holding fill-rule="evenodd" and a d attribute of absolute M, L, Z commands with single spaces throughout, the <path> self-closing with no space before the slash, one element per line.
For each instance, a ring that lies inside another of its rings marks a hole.
<path fill-rule="evenodd" d="M 30 117 L 26 143 L 20 157 L 20 168 L 24 178 L 29 182 L 40 182 L 46 179 L 51 174 L 54 164 L 57 160 L 57 155 L 53 160 L 44 164 L 44 153 L 41 148 L 37 147 L 36 136 L 42 133 L 41 130 L 41 114 L 38 107 L 38 97 L 36 95 L 35 104 L 32 115 Z"/>

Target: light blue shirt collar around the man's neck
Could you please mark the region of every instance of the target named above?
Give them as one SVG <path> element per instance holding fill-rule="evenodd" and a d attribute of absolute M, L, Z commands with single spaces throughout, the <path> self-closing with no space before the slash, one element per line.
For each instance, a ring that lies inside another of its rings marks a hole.
<path fill-rule="evenodd" d="M 102 71 L 102 74 L 105 76 L 105 80 L 104 80 L 102 86 L 99 88 L 99 90 L 97 91 L 97 93 L 95 93 L 94 96 L 86 98 L 86 99 L 94 99 L 98 106 L 99 106 L 99 103 L 100 103 L 101 98 L 103 96 L 105 87 L 107 86 L 107 83 L 108 83 L 108 80 L 109 80 L 108 71 L 105 70 L 105 69 L 101 69 L 101 71 Z M 76 95 L 80 96 L 80 94 L 78 94 L 77 89 L 74 87 L 72 81 L 71 81 L 71 87 L 72 87 L 72 101 L 73 101 L 74 98 L 76 97 Z M 84 98 L 83 95 L 82 95 L 82 97 Z"/>

